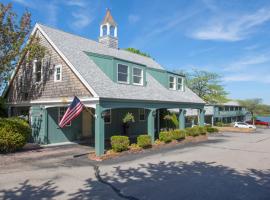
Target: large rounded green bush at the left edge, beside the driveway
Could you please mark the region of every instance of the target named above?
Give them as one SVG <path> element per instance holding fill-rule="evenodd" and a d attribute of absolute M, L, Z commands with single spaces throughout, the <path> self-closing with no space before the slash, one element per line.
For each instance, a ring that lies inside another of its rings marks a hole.
<path fill-rule="evenodd" d="M 29 140 L 29 124 L 20 118 L 0 119 L 0 152 L 8 153 L 22 149 Z"/>

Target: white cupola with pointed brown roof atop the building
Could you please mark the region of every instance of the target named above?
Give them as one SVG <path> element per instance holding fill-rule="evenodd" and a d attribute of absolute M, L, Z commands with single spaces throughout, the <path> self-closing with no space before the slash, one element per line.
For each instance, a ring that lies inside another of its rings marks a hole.
<path fill-rule="evenodd" d="M 99 42 L 110 48 L 118 48 L 117 24 L 115 23 L 110 9 L 100 24 Z"/>

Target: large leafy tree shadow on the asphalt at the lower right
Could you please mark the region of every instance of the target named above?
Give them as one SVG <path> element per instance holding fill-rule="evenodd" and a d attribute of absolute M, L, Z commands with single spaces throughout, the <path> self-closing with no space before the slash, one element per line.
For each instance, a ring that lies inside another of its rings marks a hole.
<path fill-rule="evenodd" d="M 97 175 L 99 176 L 99 174 Z M 139 167 L 115 168 L 112 175 L 88 179 L 71 199 L 113 199 L 103 186 L 110 186 L 119 199 L 269 199 L 270 170 L 245 173 L 215 163 L 160 162 Z"/>

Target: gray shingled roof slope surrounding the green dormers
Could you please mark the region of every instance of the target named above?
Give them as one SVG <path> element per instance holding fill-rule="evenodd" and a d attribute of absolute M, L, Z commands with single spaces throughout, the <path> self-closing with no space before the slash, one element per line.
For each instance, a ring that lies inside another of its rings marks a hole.
<path fill-rule="evenodd" d="M 102 44 L 72 35 L 57 29 L 40 25 L 57 48 L 66 56 L 80 75 L 88 82 L 99 97 L 168 101 L 184 103 L 204 103 L 195 93 L 186 88 L 185 92 L 168 90 L 162 86 L 149 73 L 146 74 L 147 85 L 145 87 L 118 84 L 107 77 L 103 71 L 84 52 L 93 52 L 113 56 L 144 64 L 148 67 L 163 69 L 153 59 L 136 55 L 124 50 L 112 49 Z"/>

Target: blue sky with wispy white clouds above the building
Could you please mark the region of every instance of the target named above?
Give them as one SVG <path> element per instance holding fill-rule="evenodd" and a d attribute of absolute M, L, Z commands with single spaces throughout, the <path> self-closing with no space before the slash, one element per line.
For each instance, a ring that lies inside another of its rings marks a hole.
<path fill-rule="evenodd" d="M 8 3 L 10 1 L 3 1 Z M 106 8 L 118 23 L 120 48 L 149 53 L 168 70 L 223 76 L 230 98 L 270 104 L 270 1 L 13 0 L 40 22 L 96 40 Z"/>

